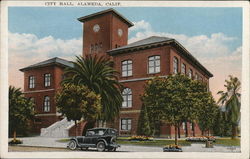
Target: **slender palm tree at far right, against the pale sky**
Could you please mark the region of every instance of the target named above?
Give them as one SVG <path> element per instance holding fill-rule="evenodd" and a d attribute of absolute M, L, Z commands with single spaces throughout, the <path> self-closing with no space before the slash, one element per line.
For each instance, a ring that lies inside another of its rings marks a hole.
<path fill-rule="evenodd" d="M 240 120 L 240 96 L 239 93 L 241 88 L 241 83 L 237 77 L 229 75 L 229 80 L 225 80 L 226 84 L 224 85 L 227 91 L 219 91 L 217 94 L 220 94 L 221 97 L 218 100 L 218 103 L 224 105 L 226 108 L 226 116 L 231 121 L 232 125 L 232 139 L 237 135 L 237 127 Z"/>

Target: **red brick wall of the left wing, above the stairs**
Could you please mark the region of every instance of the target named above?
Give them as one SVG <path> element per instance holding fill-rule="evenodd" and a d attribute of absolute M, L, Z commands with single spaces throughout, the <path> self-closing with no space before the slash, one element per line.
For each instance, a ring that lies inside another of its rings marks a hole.
<path fill-rule="evenodd" d="M 44 86 L 44 74 L 51 74 L 51 86 Z M 35 122 L 33 123 L 33 132 L 40 133 L 41 128 L 46 128 L 51 124 L 61 120 L 56 115 L 55 93 L 60 88 L 63 68 L 58 66 L 46 66 L 27 70 L 24 72 L 24 93 L 27 98 L 34 98 L 35 101 Z M 29 76 L 35 76 L 35 88 L 28 88 Z M 50 111 L 44 111 L 44 97 L 50 97 Z"/>

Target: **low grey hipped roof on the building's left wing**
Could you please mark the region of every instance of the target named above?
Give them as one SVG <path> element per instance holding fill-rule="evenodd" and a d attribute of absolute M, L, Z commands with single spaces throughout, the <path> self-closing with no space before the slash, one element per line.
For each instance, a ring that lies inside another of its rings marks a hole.
<path fill-rule="evenodd" d="M 48 59 L 48 60 L 33 64 L 33 65 L 30 65 L 28 67 L 22 68 L 20 69 L 20 71 L 27 71 L 29 69 L 40 68 L 40 67 L 51 66 L 51 65 L 57 65 L 61 67 L 73 67 L 74 66 L 74 64 L 70 61 L 67 61 L 58 57 L 54 57 L 52 59 Z"/>

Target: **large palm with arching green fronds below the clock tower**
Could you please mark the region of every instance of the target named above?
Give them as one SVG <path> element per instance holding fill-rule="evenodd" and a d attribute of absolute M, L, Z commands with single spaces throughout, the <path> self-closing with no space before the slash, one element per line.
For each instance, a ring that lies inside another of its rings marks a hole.
<path fill-rule="evenodd" d="M 74 67 L 65 69 L 66 78 L 62 83 L 85 85 L 101 95 L 102 112 L 100 119 L 112 121 L 118 115 L 122 104 L 121 85 L 113 62 L 105 56 L 76 56 Z"/>

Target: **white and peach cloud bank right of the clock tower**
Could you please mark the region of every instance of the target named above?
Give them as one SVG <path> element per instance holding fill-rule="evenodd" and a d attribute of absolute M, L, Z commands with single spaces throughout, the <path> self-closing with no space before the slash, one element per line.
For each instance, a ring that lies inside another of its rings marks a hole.
<path fill-rule="evenodd" d="M 237 38 L 229 37 L 223 33 L 213 33 L 210 36 L 187 36 L 157 32 L 152 29 L 150 23 L 144 20 L 134 22 L 134 24 L 135 29 L 131 27 L 129 32 L 135 32 L 135 36 L 129 39 L 129 43 L 150 36 L 164 36 L 176 39 L 189 50 L 194 57 L 213 73 L 214 77 L 210 80 L 210 88 L 215 98 L 218 98 L 216 93 L 219 90 L 224 90 L 224 81 L 228 78 L 228 75 L 231 74 L 241 79 L 242 48 L 239 46 L 235 50 L 231 50 L 229 47 L 230 43 L 237 40 Z"/>

